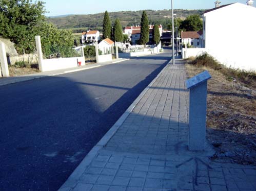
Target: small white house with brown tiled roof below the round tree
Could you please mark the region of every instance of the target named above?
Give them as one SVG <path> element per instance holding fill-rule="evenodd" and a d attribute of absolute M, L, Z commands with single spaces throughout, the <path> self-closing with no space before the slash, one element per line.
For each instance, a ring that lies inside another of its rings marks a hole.
<path fill-rule="evenodd" d="M 200 34 L 202 34 L 202 31 L 182 31 L 182 43 L 193 47 L 200 47 Z"/>

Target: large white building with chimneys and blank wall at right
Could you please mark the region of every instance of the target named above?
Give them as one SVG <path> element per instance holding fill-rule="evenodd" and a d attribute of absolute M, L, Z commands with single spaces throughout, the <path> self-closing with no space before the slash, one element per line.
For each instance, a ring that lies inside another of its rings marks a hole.
<path fill-rule="evenodd" d="M 202 47 L 226 66 L 256 70 L 256 8 L 252 3 L 216 4 L 203 14 Z"/>

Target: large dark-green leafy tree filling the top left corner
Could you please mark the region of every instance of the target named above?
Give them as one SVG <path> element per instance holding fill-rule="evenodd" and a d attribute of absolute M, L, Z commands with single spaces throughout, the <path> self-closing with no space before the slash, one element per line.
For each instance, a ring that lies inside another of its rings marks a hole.
<path fill-rule="evenodd" d="M 19 53 L 33 52 L 31 30 L 45 20 L 44 3 L 32 0 L 0 0 L 0 36 L 15 43 Z M 34 40 L 33 40 L 34 41 Z"/>

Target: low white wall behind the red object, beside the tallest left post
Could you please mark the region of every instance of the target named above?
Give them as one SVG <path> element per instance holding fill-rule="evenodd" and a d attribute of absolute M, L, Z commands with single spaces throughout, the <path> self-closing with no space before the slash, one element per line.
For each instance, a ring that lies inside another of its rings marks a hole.
<path fill-rule="evenodd" d="M 73 57 L 73 58 L 54 58 L 54 59 L 43 59 L 42 70 L 51 71 L 56 69 L 65 69 L 78 67 L 78 62 L 82 62 L 81 66 L 85 65 L 84 57 Z"/>

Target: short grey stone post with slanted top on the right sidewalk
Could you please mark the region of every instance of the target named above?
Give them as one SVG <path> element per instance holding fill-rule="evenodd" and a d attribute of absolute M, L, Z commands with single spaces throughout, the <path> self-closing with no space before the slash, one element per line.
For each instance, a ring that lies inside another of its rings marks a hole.
<path fill-rule="evenodd" d="M 187 80 L 189 89 L 189 137 L 190 151 L 203 151 L 206 137 L 207 80 L 208 71 Z"/>

